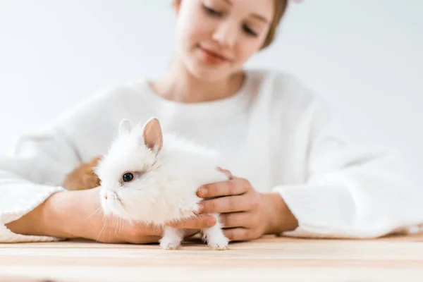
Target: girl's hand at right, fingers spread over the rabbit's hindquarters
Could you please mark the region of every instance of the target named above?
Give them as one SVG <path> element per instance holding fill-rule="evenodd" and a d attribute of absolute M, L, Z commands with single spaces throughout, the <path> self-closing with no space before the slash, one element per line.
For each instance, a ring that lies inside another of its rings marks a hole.
<path fill-rule="evenodd" d="M 201 214 L 220 213 L 224 233 L 229 240 L 253 240 L 265 234 L 278 234 L 298 226 L 278 193 L 259 193 L 245 178 L 235 178 L 225 171 L 229 180 L 203 185 L 198 197 L 203 200 Z"/>

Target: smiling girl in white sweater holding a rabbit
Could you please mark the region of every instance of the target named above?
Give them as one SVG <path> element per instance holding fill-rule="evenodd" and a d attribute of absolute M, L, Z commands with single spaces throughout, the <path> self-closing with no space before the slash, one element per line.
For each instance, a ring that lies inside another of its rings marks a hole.
<path fill-rule="evenodd" d="M 0 161 L 0 241 L 90 238 L 156 242 L 161 231 L 119 226 L 99 212 L 98 188 L 66 191 L 63 178 L 104 154 L 122 118 L 157 116 L 169 130 L 219 148 L 233 179 L 199 188 L 223 214 L 231 240 L 264 234 L 374 238 L 423 223 L 423 192 L 395 155 L 357 147 L 287 73 L 246 70 L 271 44 L 287 0 L 173 1 L 176 56 L 163 77 L 93 95 L 53 124 L 20 138 Z M 97 212 L 96 212 L 97 211 Z M 214 225 L 214 219 L 178 227 Z"/>

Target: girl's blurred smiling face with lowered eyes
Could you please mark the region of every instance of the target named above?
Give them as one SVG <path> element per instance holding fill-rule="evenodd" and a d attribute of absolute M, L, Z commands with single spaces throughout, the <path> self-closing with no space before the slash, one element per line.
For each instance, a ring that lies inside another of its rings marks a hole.
<path fill-rule="evenodd" d="M 219 80 L 262 47 L 274 0 L 182 0 L 176 11 L 183 65 L 197 78 Z"/>

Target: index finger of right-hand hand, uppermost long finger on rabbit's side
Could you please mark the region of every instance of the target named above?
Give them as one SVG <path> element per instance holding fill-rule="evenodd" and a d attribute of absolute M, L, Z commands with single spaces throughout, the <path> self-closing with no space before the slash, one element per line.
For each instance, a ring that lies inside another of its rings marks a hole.
<path fill-rule="evenodd" d="M 219 181 L 202 185 L 197 192 L 198 197 L 222 197 L 230 195 L 242 195 L 250 189 L 250 183 L 244 178 Z"/>

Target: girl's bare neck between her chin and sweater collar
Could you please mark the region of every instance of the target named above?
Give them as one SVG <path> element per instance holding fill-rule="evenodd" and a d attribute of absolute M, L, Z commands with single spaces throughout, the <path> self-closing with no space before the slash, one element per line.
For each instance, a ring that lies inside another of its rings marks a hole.
<path fill-rule="evenodd" d="M 210 102 L 230 97 L 237 92 L 244 81 L 242 72 L 216 81 L 200 80 L 193 76 L 180 60 L 173 62 L 163 78 L 152 83 L 161 97 L 184 103 Z"/>

